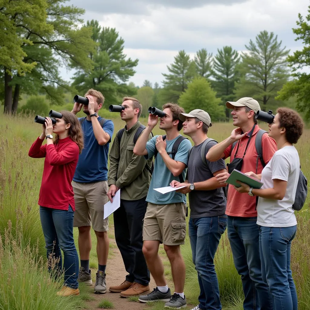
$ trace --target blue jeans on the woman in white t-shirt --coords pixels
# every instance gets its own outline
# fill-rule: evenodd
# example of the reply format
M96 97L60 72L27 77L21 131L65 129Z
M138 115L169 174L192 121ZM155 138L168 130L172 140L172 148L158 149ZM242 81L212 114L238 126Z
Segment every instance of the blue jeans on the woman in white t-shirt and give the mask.
M297 310L297 293L290 269L290 248L296 227L259 226L262 276L269 286L275 310Z

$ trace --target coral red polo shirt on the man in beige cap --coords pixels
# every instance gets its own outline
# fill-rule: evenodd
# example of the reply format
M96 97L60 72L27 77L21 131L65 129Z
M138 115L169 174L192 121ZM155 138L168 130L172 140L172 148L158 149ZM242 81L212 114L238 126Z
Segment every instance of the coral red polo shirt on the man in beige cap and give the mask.
M246 150L246 155L243 157L243 164L241 172L253 171L256 170L256 161L257 161L257 152L255 148L255 138L257 131L259 131L259 126L256 125L250 140L249 146ZM239 149L236 155L236 158L242 158L244 151L246 149L246 144L249 140L249 135L246 135L240 140ZM233 161L235 153L237 151L238 143L235 147L232 148L232 145L229 145L228 148L224 151L225 159L230 156L230 162ZM272 158L273 154L277 151L276 141L268 136L267 133L262 136L262 149L263 149L263 160L267 164ZM230 154L231 153L231 154ZM262 173L263 165L258 160L257 174ZM247 193L237 192L233 185L229 184L228 193L227 193L227 205L226 205L226 214L230 216L241 216L241 217L252 217L257 216L257 211L255 210L256 206L256 196L251 197Z

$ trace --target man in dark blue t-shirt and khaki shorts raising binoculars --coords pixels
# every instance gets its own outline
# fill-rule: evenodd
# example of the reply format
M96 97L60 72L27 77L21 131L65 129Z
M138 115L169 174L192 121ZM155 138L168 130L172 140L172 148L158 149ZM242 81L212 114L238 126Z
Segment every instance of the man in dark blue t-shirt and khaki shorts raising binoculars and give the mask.
M78 227L78 247L81 267L78 281L91 285L89 254L91 251L91 226L97 237L98 272L95 293L106 292L105 267L108 259L108 218L104 217L104 204L108 202L108 151L114 125L104 120L97 112L104 103L100 91L90 89L85 94L87 105L74 103L73 114L81 111L86 118L79 118L84 134L84 148L79 156L73 176L75 214L73 226Z

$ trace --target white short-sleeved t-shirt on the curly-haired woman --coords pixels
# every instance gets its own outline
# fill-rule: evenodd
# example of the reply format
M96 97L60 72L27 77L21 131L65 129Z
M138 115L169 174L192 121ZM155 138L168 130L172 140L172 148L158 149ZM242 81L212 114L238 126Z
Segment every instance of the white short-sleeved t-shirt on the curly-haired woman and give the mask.
M299 155L294 146L285 146L274 153L262 171L262 188L273 188L273 180L287 181L282 200L259 197L257 224L266 227L290 227L297 224L292 208L299 179Z

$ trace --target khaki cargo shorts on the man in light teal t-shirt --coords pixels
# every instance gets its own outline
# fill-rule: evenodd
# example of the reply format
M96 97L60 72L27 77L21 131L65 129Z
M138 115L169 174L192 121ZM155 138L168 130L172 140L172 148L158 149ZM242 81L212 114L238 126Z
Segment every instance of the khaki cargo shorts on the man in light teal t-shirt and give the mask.
M143 240L159 240L167 246L184 244L186 205L183 202L155 205L148 202L143 220Z

